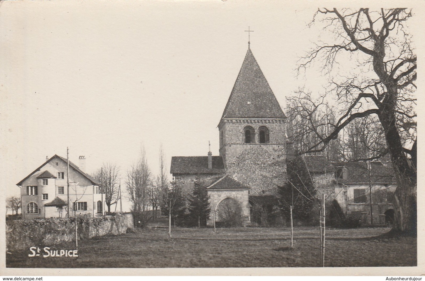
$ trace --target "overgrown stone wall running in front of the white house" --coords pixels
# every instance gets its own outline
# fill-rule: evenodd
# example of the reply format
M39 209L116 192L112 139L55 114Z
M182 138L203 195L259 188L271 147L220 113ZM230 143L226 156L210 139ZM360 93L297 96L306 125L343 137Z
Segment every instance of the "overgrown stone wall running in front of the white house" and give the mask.
M102 216L77 218L79 239L95 236L118 235L133 228L133 216ZM28 250L29 247L47 247L75 240L75 219L23 219L6 222L8 250Z

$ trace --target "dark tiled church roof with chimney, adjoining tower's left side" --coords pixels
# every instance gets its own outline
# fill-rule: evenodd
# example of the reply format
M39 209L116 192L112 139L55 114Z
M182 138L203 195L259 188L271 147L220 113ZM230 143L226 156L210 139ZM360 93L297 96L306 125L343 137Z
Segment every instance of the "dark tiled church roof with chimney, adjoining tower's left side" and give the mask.
M223 157L212 156L212 169L208 169L208 156L173 156L171 174L223 174Z

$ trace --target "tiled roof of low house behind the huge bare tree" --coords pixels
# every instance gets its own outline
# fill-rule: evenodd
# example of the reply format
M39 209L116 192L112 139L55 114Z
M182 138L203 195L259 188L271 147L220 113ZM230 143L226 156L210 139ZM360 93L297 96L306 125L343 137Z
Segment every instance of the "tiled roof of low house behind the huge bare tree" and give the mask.
M369 171L364 162L336 163L337 169L347 169L346 179L335 178L337 183L368 183ZM372 183L397 183L391 163L371 162Z

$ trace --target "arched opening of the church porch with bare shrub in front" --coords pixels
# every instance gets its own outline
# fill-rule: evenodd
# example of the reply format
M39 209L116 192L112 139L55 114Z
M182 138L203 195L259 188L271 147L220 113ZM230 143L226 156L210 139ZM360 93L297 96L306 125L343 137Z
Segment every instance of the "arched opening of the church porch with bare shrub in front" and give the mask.
M227 197L218 203L216 208L219 226L231 227L242 225L242 208L238 201Z

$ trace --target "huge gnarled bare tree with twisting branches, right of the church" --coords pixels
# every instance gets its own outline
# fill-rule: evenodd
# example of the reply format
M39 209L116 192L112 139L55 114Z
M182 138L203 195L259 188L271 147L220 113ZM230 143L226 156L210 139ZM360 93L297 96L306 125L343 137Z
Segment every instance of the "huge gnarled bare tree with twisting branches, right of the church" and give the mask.
M319 141L303 153L323 151L351 121L376 115L397 178L395 228L416 233L416 55L407 30L411 11L325 8L317 11L312 23L322 15L326 23L323 30L331 31L334 38L329 40L333 42L317 45L301 60L300 69L323 59L325 73L338 70L342 61L344 68L358 73L333 76L328 94L336 93L340 117L328 134L317 134ZM371 155L369 159L381 156Z

